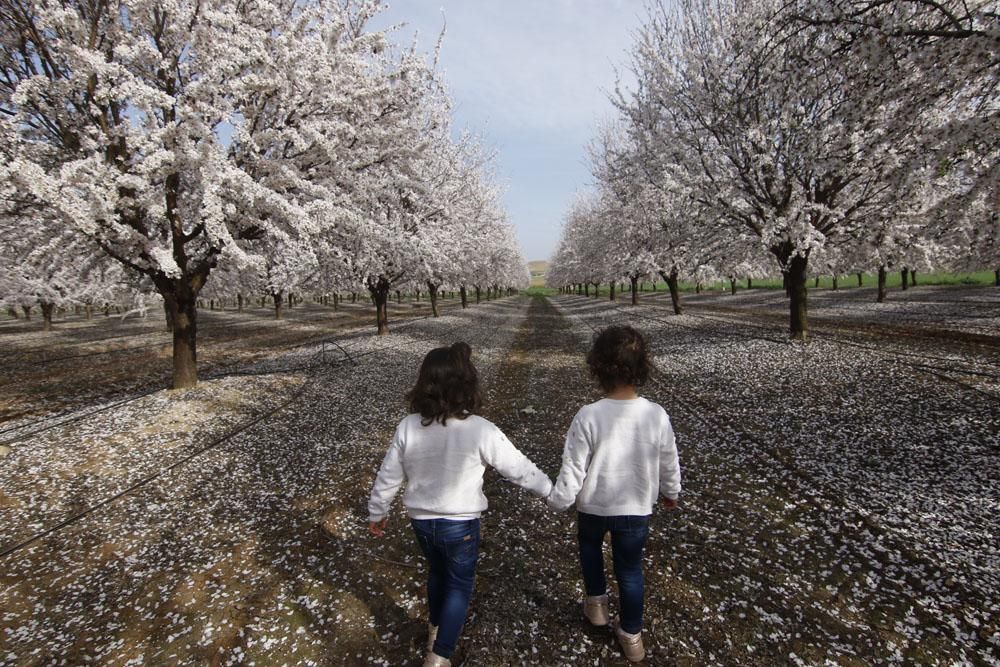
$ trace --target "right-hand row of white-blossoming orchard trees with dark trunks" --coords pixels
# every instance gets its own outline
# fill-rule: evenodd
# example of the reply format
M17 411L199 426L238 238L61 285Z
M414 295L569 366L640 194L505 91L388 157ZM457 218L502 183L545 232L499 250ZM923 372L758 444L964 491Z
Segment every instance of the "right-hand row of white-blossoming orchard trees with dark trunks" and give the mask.
M553 287L996 272L1000 3L653 4Z

